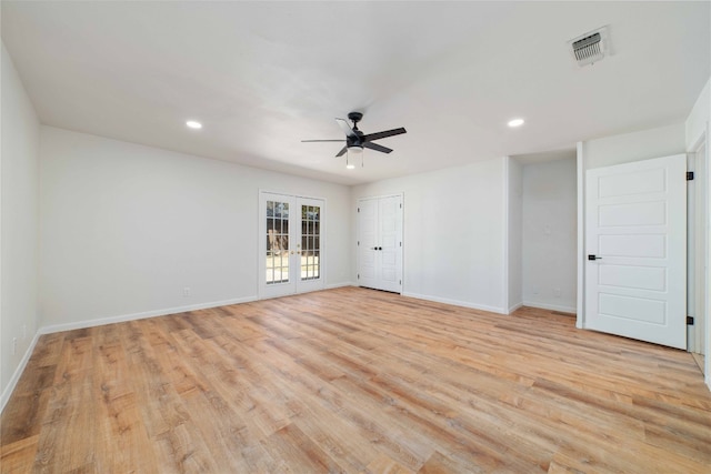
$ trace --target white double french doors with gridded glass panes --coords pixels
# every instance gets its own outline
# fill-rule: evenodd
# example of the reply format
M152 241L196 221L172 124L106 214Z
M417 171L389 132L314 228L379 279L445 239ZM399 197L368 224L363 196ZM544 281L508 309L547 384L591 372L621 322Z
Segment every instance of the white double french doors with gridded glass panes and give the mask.
M323 288L323 200L261 192L259 296Z

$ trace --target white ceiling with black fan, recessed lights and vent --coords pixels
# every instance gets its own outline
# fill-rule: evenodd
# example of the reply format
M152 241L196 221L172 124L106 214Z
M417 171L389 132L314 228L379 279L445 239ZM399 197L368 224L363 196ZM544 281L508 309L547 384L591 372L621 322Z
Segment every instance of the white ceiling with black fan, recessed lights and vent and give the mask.
M683 121L709 2L14 2L2 40L42 123L353 184ZM579 68L568 40L609 26ZM404 127L346 170L336 117ZM509 129L509 119L527 120ZM188 119L204 124L188 130Z

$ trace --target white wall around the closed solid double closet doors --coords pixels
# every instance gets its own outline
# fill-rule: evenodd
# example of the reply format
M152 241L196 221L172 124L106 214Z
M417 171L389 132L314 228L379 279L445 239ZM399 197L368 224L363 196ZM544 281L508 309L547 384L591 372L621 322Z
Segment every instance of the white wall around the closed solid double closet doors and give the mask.
M504 159L359 185L351 209L400 192L403 294L505 313Z

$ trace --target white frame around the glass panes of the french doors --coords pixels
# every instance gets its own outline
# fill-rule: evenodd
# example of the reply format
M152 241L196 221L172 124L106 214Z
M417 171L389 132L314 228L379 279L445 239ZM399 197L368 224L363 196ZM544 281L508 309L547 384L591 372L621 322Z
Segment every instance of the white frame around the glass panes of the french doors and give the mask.
M259 188L257 190L257 299L258 300L267 300L267 299L271 299L271 297L281 297L281 296L288 296L287 295L279 295L279 296L271 296L271 295L267 295L264 294L264 285L262 282L262 278L266 276L264 272L263 272L263 260L262 260L262 251L264 249L262 249L262 242L264 239L264 235L262 235L262 206L261 206L261 202L262 202L262 194L277 194L277 195L282 195L284 198L289 198L289 199L293 199L294 202L297 202L299 199L312 199L312 200L317 200L317 201L321 201L323 203L323 206L321 209L321 219L320 219L320 255L319 255L319 264L320 264L320 269L319 269L319 273L320 273L320 278L319 281L321 281L323 284L321 285L321 288L317 288L317 289L307 289L303 291L299 291L299 282L296 282L296 291L294 293L290 293L290 294L300 294L300 293L308 293L310 291L319 291L319 290L323 290L326 288L326 279L327 279L327 270L326 270L326 263L328 261L328 256L327 256L327 246L326 243L328 241L327 239L327 226L328 226L328 219L326 219L327 215L327 199L326 198L319 198L319 196L314 196L314 195L309 195L307 193L289 193L286 191L273 191L270 189L263 189L263 188ZM308 286L313 286L313 285L307 285Z

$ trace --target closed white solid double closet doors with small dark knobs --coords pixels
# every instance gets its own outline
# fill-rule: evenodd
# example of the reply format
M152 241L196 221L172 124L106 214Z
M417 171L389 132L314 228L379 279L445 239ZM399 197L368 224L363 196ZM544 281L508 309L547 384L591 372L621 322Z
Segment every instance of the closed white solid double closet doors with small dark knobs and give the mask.
M358 202L358 283L402 291L402 195Z

